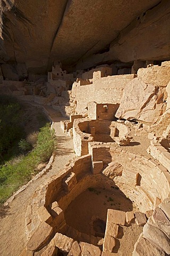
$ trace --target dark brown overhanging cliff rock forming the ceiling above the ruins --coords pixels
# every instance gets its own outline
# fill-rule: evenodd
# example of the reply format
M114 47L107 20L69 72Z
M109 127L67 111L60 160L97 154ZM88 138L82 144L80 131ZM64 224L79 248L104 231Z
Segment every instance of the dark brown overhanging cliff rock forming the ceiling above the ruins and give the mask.
M170 4L160 0L1 0L0 61L29 73L170 58Z

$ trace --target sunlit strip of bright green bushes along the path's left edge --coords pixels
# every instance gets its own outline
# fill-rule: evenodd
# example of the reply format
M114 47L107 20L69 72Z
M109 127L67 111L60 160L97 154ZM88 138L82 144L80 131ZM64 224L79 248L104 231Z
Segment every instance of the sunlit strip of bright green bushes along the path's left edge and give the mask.
M0 169L0 203L4 203L21 185L28 182L37 173L37 166L48 161L54 150L54 136L50 124L46 124L38 133L35 148L16 164L7 163Z

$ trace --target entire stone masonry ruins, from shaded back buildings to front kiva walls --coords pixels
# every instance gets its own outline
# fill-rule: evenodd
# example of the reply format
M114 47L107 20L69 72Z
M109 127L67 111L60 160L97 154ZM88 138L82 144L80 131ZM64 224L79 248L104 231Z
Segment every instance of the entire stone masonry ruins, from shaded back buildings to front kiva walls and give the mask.
M134 63L135 74L128 75L112 76L106 66L79 70L76 82L75 74L66 74L60 64L48 74L45 90L15 81L15 90L7 81L0 85L20 99L70 116L61 127L73 137L77 155L33 194L25 217L27 248L21 255L124 255L117 241L122 228L132 225L142 227L133 256L170 254L169 62L140 69ZM74 82L72 90L67 81ZM143 134L150 145L139 154L136 138ZM129 211L108 208L103 234L87 234L67 223L69 205L91 187L118 191L133 204Z

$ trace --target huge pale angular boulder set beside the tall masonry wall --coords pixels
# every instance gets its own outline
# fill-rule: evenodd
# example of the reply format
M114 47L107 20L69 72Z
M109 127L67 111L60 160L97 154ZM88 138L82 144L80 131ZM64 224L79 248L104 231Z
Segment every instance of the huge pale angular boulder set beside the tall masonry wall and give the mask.
M137 119L155 123L162 113L163 102L158 101L157 88L146 84L140 78L134 78L124 89L117 118Z

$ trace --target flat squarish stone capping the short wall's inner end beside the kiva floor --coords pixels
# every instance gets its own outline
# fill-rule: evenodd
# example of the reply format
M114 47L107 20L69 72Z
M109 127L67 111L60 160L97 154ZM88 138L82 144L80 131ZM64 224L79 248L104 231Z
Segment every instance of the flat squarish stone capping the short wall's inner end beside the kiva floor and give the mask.
M125 212L108 209L107 210L107 219L112 220L112 222L114 222L115 224L124 226L125 225Z

